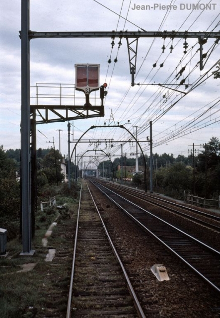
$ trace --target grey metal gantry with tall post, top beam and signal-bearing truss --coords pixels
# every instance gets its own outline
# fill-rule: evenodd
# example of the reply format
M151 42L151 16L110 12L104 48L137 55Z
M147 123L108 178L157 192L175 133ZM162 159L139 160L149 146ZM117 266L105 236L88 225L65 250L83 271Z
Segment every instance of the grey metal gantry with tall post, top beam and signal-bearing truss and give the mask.
M130 73L132 75L132 86L134 85L134 75L136 72L136 61L137 61L137 50L138 50L138 39L139 38L198 38L200 45L200 69L203 69L203 44L208 38L215 38L216 43L220 40L220 32L176 32L176 31L90 31L90 32L35 32L30 30L30 0L21 0L21 207L22 207L22 241L23 250L21 254L33 254L34 251L31 250L31 215L33 215L33 206L31 207L31 188L33 189L33 184L31 184L31 147L32 154L36 153L36 134L34 133L36 125L35 111L44 109L46 116L43 117L44 122L49 121L47 114L51 110L54 114L58 116L56 121L68 121L73 119L81 119L88 117L99 117L104 116L103 107L98 109L92 109L96 111L95 114L89 114L90 109L84 106L66 107L66 111L71 110L74 115L63 116L59 113L60 106L56 105L32 105L30 106L30 40L37 38L126 38L128 43L129 51L129 63L130 63ZM132 44L135 43L135 48ZM133 55L132 55L133 54ZM103 105L103 101L102 101ZM102 106L101 105L101 106ZM38 108L37 108L38 107ZM80 108L82 107L82 108ZM99 106L97 106L99 107ZM64 106L62 106L62 110ZM32 123L31 123L32 114ZM81 115L82 114L82 115ZM32 124L32 128L31 128ZM104 126L103 126L104 127ZM126 129L124 127L124 129ZM32 141L30 140L32 130ZM129 131L128 131L129 132ZM130 132L129 132L130 133ZM144 157L144 154L143 154ZM145 158L145 157L144 157ZM33 158L32 158L33 162ZM33 169L32 165L32 169ZM34 175L32 171L32 175ZM33 183L33 178L32 178Z

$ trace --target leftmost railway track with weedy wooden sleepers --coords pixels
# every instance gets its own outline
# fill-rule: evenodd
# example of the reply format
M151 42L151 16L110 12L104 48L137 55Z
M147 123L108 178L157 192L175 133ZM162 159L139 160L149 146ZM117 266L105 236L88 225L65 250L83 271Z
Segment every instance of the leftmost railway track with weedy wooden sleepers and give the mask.
M66 317L144 318L125 268L85 182L81 192Z

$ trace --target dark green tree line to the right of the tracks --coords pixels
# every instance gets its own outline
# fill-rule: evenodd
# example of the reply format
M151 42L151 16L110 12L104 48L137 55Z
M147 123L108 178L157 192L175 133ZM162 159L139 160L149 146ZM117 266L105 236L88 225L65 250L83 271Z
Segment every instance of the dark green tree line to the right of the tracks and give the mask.
M149 156L147 162L147 184L149 188ZM104 162L104 170L103 170ZM102 161L98 165L100 175L107 178L121 179L121 170L118 165L123 165L123 179L133 179L136 185L144 185L144 175L132 175L128 172L129 166L136 165L136 159L126 156L116 158L111 164L110 160ZM141 155L138 158L139 166L144 165ZM188 157L173 154L153 155L153 190L167 195L183 198L183 193L190 192L206 198L218 198L220 195L220 140L212 137L210 141L197 147L189 153Z

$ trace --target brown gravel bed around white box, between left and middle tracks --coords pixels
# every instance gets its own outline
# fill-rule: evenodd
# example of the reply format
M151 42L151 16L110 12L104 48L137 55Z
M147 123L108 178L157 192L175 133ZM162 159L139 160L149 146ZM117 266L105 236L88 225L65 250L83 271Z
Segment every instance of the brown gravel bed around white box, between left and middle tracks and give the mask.
M134 278L134 288L146 317L219 318L220 299L216 293L94 186L90 186L102 210L102 217L111 229L116 248L126 251L120 256ZM195 228L192 227L192 231L195 232ZM159 282L156 279L151 272L154 264L166 267L169 281Z

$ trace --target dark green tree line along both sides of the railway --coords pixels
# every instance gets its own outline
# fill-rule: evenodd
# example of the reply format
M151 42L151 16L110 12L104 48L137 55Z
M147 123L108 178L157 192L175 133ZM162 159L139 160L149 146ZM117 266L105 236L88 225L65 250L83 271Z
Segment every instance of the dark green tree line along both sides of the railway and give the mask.
M55 160L56 157L56 160ZM61 171L62 156L58 150L37 150L37 187L38 190L63 181ZM149 189L149 157L147 162L147 189ZM125 178L132 178L132 183L143 186L144 174L132 175L127 167L135 166L135 158L115 158L113 161L105 160L99 163L98 170L106 178L121 178L118 166L123 162L123 182ZM144 158L138 158L139 166L144 165ZM103 169L104 166L104 169ZM71 165L71 176L75 166ZM17 235L20 213L20 182L17 175L20 172L20 150L3 150L0 146L0 227L9 229L9 237ZM179 155L174 158L172 154L153 155L153 191L166 195L183 198L183 193L190 192L200 197L218 199L220 195L220 140L212 137L210 141L201 145L188 157ZM8 226L8 223L10 226Z

